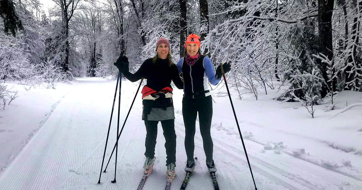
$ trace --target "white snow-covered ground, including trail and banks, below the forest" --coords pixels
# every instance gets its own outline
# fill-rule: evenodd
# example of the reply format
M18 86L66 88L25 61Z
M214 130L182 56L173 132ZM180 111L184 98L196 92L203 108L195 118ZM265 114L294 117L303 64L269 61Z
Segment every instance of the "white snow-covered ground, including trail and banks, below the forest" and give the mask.
M5 83L19 97L0 110L1 190L132 190L143 173L144 138L142 101L138 94L118 146L117 183L115 156L97 185L106 142L115 80L81 78L56 89ZM138 83L122 81L120 127L133 100ZM29 88L29 86L25 86ZM278 87L278 86L277 86ZM240 87L239 87L240 90ZM242 90L243 91L243 90ZM214 91L226 92L225 87ZM361 190L362 107L335 117L346 104L362 102L361 92L338 94L337 110L325 111L330 103L316 107L315 118L299 102L273 100L282 90L261 89L258 100L236 88L232 100L260 190ZM241 93L245 93L244 91ZM252 190L254 184L227 94L214 96L212 137L220 189ZM180 189L185 172L182 90L174 90L177 134L176 178L171 189ZM347 103L346 103L347 102ZM115 105L105 165L116 139L118 98ZM197 123L198 125L198 123ZM156 144L156 163L144 190L164 189L165 148L162 128ZM195 156L199 162L186 189L213 189L207 173L199 132Z

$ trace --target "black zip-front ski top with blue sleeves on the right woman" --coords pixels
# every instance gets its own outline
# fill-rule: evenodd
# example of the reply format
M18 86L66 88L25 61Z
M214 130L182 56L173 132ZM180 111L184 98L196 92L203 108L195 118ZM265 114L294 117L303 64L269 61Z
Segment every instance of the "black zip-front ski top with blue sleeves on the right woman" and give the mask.
M210 96L209 84L216 85L219 79L215 77L214 67L208 56L201 55L195 64L190 66L186 60L181 58L177 64L178 73L182 72L184 78L184 97L205 97Z

